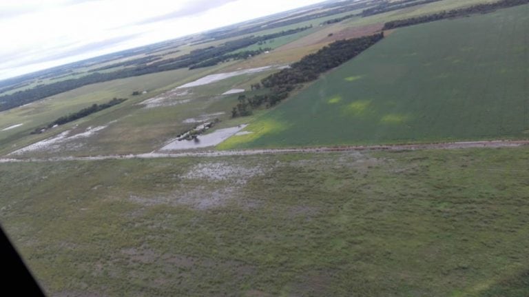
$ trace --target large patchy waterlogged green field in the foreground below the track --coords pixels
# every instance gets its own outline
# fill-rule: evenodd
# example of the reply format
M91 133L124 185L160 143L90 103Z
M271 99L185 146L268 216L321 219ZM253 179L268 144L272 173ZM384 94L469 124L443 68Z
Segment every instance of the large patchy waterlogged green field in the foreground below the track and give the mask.
M523 297L528 167L527 147L3 163L0 223L52 296Z

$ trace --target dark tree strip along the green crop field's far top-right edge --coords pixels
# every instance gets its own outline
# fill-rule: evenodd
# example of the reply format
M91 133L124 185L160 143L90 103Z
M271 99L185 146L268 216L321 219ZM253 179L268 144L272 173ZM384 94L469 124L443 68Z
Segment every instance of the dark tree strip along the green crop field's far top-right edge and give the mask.
M396 21L388 21L384 24L384 30L406 27L408 25L416 25L418 23L428 23L431 21L439 21L441 19L451 19L455 17L465 17L469 14L488 13L499 8L509 8L512 6L519 6L529 3L529 0L501 0L494 3L477 4L468 8L459 8L456 10L444 10L435 14L427 14L421 17L412 17L409 19L400 19Z

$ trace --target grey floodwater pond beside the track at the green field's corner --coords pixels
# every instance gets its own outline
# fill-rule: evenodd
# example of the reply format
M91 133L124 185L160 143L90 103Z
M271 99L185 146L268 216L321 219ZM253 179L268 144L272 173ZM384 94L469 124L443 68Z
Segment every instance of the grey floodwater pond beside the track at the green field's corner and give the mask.
M165 145L165 147L162 147L160 150L191 150L201 147L211 147L225 141L229 136L236 134L246 126L247 125L238 125L237 127L219 129L215 132L198 136L197 141L172 141L172 143Z

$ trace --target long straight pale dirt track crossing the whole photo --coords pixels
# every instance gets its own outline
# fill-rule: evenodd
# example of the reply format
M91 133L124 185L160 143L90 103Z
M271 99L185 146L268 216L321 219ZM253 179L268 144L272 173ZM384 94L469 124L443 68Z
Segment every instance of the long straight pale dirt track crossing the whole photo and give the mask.
M49 161L90 161L121 158L180 158L189 156L248 156L258 154L289 154L289 153L319 153L319 152L353 152L363 150L454 150L472 147L519 147L529 145L529 140L523 141L461 141L451 143L422 143L409 145L355 145L338 147L307 147L290 149L263 150L227 150L227 151L180 151L180 152L151 152L147 154L107 155L107 156L59 156L54 158L0 158L0 163L8 162L49 162Z

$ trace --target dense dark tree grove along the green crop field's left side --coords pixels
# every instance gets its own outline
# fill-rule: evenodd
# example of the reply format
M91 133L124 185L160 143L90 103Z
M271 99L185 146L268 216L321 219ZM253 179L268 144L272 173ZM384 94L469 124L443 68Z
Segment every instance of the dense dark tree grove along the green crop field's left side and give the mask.
M371 36L355 39L338 40L314 54L303 57L300 61L293 63L290 68L271 74L261 80L260 84L252 85L252 90L259 90L261 85L267 88L267 94L256 94L251 97L240 95L238 103L231 110L231 116L247 116L253 108L266 105L271 107L289 96L289 93L298 88L301 83L307 83L318 79L320 74L338 67L342 63L353 59L358 54L371 47L384 38L380 32Z

